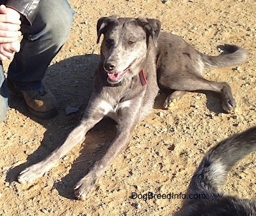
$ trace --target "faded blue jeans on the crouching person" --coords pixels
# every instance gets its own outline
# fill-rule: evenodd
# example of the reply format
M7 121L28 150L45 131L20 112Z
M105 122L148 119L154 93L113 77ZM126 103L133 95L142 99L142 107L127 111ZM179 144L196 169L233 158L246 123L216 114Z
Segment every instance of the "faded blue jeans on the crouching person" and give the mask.
M20 90L36 90L42 87L42 79L61 47L67 41L74 10L67 0L44 0L33 25L22 25L20 52L14 55L8 68L8 79ZM8 109L8 95L0 66L0 122Z

